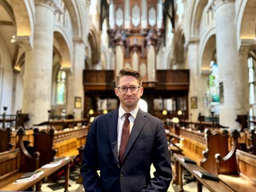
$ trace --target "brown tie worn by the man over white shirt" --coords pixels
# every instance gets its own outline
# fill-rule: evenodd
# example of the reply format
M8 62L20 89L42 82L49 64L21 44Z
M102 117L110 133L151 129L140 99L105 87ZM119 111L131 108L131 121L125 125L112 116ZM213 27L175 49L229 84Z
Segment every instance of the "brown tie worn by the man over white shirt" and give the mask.
M124 120L124 125L123 125L122 138L121 138L121 144L120 144L120 149L119 149L119 157L118 157L118 160L119 160L120 163L123 162L125 148L126 148L129 136L130 136L130 121L129 121L128 117L131 114L126 113L124 115L125 115L125 120Z

